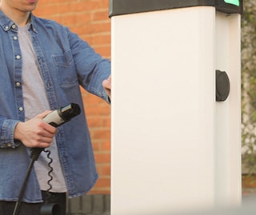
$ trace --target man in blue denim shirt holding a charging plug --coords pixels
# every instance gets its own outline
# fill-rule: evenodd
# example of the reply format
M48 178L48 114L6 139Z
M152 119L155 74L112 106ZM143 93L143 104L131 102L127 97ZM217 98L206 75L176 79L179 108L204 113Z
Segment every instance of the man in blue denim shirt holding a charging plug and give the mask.
M31 148L50 154L34 163L19 215L40 214L46 198L66 214L66 196L87 193L98 178L80 86L110 102L110 62L66 27L35 17L37 3L0 0L0 215L14 212ZM78 117L58 129L42 120L71 102Z

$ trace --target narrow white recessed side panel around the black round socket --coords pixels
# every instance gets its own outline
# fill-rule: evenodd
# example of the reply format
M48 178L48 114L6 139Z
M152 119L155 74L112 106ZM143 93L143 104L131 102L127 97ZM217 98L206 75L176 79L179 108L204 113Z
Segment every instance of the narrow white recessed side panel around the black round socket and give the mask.
M216 204L241 201L241 54L240 15L217 13L216 69L230 78L230 96L216 102L215 197Z

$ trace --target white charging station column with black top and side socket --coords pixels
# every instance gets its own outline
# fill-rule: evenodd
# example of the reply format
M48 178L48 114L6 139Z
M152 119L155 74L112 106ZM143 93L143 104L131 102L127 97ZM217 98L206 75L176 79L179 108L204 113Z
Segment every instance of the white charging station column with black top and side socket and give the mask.
M203 2L110 1L111 215L240 204L242 2Z

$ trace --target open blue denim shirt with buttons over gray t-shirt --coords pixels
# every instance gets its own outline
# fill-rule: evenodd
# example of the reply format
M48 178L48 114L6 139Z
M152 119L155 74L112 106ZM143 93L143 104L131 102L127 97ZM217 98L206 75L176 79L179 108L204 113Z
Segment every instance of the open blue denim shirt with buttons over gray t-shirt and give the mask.
M50 109L70 102L82 109L79 116L59 126L55 135L69 197L76 197L87 193L98 178L80 86L108 102L102 81L110 75L110 61L57 22L31 14L29 31ZM30 155L20 141L14 140L15 126L25 120L18 26L2 11L0 49L0 200L17 201ZM34 169L23 201L42 201Z

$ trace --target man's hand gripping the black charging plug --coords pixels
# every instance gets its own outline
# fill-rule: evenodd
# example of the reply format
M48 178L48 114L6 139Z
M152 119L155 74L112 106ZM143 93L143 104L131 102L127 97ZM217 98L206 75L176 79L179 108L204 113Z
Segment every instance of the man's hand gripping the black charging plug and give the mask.
M53 141L57 129L43 121L51 111L45 111L26 122L18 122L14 130L14 139L22 141L29 148L47 148Z

